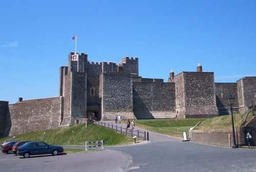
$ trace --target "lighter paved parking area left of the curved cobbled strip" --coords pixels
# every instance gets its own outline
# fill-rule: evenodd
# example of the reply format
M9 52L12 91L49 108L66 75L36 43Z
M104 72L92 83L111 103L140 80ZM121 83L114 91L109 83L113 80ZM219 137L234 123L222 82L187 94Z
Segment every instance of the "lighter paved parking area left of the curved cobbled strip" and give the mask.
M0 153L0 171L69 172L69 171L120 171L125 165L124 153L113 150L81 152L69 155L44 155L23 158Z

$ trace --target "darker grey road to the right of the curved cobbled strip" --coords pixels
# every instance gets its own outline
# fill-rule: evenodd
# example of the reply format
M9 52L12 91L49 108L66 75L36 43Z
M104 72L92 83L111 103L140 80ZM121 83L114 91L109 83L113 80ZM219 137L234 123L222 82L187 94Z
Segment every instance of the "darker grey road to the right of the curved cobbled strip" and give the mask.
M256 171L256 151L190 142L108 147L132 156L131 171Z

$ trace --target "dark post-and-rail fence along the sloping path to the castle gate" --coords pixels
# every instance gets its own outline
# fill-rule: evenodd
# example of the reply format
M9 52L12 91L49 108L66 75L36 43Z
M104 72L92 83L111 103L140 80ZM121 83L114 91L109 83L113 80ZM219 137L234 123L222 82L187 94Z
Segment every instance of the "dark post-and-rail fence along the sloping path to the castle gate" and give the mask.
M113 124L109 124L109 123L107 124L102 121L93 121L93 124L110 128L110 129L115 130L116 132L121 133L121 134L123 133L125 135L129 135L132 137L137 136L138 138L142 138L144 140L149 141L148 132L146 132L146 131L141 132L139 130L128 130L126 127L122 127L122 126L119 127L117 125L113 125Z

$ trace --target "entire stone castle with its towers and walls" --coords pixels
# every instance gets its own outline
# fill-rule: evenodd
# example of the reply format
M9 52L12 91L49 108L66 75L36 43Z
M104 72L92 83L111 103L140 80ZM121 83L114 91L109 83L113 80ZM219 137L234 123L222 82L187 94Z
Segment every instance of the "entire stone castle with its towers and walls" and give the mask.
M168 82L139 76L138 58L120 63L89 62L87 54L59 69L59 97L0 101L0 137L28 131L66 127L87 118L114 120L161 118L210 118L228 114L227 98L236 101L235 113L244 113L256 100L256 77L237 83L215 83L214 72L170 71Z

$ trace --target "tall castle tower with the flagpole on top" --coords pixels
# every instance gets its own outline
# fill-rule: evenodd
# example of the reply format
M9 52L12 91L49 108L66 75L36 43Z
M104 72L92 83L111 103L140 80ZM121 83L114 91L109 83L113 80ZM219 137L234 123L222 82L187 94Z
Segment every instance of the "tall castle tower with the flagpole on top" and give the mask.
M73 52L68 56L68 67L60 67L59 96L63 97L60 126L84 122L87 118L87 54L78 54L77 62L72 61ZM78 71L77 71L78 70Z

